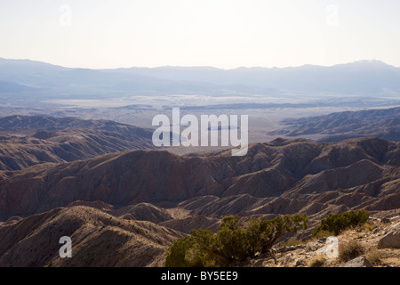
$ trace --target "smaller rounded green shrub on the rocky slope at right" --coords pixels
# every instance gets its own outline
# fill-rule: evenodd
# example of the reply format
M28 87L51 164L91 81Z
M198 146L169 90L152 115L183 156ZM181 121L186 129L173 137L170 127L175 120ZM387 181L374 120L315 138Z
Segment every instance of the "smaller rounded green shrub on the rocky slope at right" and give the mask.
M315 237L318 232L328 231L338 235L341 231L360 224L364 224L370 213L364 209L349 211L341 214L329 214L322 219L316 229L312 232Z

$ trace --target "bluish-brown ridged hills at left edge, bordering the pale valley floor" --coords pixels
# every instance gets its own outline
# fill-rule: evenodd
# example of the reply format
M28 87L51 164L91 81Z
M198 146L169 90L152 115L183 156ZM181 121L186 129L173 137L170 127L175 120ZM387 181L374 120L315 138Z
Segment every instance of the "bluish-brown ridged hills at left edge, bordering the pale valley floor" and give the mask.
M155 149L152 131L105 120L0 118L0 170L91 159L109 152Z

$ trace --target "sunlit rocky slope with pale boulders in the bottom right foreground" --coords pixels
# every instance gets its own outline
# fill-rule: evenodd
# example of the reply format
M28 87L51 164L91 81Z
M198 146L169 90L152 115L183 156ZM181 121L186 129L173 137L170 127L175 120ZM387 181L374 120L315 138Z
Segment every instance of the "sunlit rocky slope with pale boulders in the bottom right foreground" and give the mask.
M400 267L400 216L379 212L363 226L313 240L278 244L264 255L233 266L244 267ZM378 218L377 216L380 216ZM390 240L390 241L388 241ZM353 256L352 256L353 255Z

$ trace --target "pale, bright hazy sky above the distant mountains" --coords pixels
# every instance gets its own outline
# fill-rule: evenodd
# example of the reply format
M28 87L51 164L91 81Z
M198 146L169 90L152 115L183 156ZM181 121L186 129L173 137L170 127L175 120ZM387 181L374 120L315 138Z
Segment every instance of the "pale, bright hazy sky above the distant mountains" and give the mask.
M399 0L0 0L0 57L68 67L400 67Z

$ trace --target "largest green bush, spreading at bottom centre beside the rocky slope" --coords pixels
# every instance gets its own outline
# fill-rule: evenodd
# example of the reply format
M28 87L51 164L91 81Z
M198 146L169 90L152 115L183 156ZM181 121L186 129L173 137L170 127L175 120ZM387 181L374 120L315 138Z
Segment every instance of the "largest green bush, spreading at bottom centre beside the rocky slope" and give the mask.
M217 233L200 229L176 240L168 248L167 267L226 266L256 254L269 252L286 232L307 229L306 214L276 216L271 220L251 218L240 224L238 216L224 217Z

